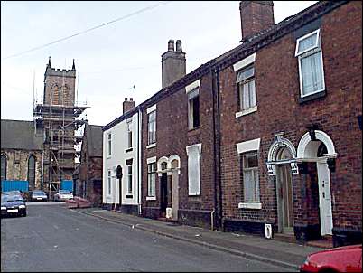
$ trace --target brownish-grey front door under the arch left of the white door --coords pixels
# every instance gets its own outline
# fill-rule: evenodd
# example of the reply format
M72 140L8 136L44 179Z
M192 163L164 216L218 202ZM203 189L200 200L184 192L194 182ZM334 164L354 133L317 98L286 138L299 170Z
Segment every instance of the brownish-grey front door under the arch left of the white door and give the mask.
M279 232L293 233L293 184L290 165L278 167L277 206Z

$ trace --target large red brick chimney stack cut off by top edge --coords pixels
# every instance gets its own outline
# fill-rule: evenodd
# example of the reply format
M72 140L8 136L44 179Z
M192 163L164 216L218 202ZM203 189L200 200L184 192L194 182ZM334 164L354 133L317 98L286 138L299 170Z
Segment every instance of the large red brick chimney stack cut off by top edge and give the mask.
M242 40L275 24L273 1L241 1Z

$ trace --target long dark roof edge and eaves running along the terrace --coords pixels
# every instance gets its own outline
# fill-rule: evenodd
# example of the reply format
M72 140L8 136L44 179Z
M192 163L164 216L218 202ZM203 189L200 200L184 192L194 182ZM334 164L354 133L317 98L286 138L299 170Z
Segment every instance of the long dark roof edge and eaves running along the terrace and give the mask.
M298 14L286 17L282 22L272 25L271 27L259 32L252 34L248 37L242 39L237 47L221 54L205 64L200 65L199 68L191 71L190 73L184 75L180 80L175 81L172 85L161 89L155 93L151 98L146 99L139 106L133 110L126 112L125 115L114 119L109 122L106 126L102 127L105 131L111 127L116 126L119 122L135 114L136 111L147 108L150 105L158 102L166 96L172 95L172 93L186 85L190 84L194 80L198 80L201 76L208 73L210 69L223 70L224 68L230 66L237 60L241 60L247 55L256 52L258 49L265 47L269 43L281 38L287 33L292 33L295 29L302 27L304 24L309 24L313 20L321 17L323 14L329 13L331 10L344 5L349 1L319 1L318 3L307 7Z

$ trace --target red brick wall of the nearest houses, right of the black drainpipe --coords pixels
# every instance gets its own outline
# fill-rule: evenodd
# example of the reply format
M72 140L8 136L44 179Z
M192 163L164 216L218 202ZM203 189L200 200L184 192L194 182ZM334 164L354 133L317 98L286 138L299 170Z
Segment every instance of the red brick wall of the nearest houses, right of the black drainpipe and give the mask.
M220 72L221 175L224 216L276 221L275 178L267 175L265 162L274 134L284 131L297 149L306 127L317 124L332 139L338 158L330 174L334 227L361 230L361 131L362 113L361 3L350 2L325 14L321 43L327 95L299 104L298 62L294 57L293 33L256 52L256 100L258 110L241 118L237 112L236 73L232 67ZM237 209L243 202L238 142L261 137L259 182L262 210ZM303 174L293 175L295 222L309 222L304 196L310 184ZM311 202L311 201L309 201ZM316 217L315 217L316 218Z

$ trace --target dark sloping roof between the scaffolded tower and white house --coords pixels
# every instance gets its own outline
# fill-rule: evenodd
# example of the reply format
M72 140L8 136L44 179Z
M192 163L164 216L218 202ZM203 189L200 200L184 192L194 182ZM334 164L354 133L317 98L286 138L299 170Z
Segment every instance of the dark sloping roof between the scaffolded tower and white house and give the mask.
M90 157L102 157L102 126L86 124L85 135L87 136L88 155Z

